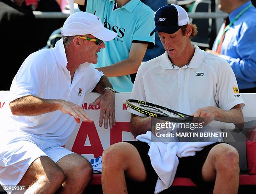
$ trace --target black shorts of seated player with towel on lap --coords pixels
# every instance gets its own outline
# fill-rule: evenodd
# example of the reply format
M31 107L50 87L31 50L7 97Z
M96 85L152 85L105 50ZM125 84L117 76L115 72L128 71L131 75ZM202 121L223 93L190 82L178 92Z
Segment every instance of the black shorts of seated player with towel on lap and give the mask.
M158 175L156 174L154 168L151 166L150 157L148 156L149 145L145 142L141 141L126 141L127 143L131 143L137 150L141 156L141 160L144 164L147 173L147 185L156 186L156 181L158 179ZM203 186L205 181L202 179L202 166L205 163L205 160L208 156L210 150L217 144L223 142L216 142L211 145L205 146L202 151L197 151L195 156L188 156L179 158L179 165L176 172L176 177L187 177L191 179L197 186ZM130 182L131 180L128 180ZM214 183L212 183L212 186Z

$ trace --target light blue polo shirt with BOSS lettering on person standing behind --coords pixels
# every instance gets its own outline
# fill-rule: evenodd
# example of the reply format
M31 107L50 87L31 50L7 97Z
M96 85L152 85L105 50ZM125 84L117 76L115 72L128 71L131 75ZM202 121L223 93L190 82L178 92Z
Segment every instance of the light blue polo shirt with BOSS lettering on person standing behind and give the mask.
M104 67L128 59L133 42L154 46L154 11L140 0L130 0L121 8L114 8L115 0L88 0L86 11L100 17L105 28L118 33L112 41L106 41L106 48L98 53L95 67ZM110 77L110 83L118 92L131 92L133 83L130 75Z

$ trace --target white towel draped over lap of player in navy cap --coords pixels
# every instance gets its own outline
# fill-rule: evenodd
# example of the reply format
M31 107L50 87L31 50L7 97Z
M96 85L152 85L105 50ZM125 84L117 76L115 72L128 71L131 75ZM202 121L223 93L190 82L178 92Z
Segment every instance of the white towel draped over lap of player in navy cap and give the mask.
M215 143L161 142L151 131L138 135L136 140L145 142L150 146L148 156L159 177L156 182L155 194L168 189L172 185L179 164L178 157L195 156L196 151L201 151L205 146Z

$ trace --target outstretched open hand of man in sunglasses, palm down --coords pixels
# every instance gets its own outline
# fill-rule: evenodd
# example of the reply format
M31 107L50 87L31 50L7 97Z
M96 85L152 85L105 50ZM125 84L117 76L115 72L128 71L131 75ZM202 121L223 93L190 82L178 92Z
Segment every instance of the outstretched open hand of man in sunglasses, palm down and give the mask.
M65 114L73 116L74 120L77 123L80 123L81 120L84 122L93 122L93 120L91 120L91 118L85 113L82 107L72 102L68 102L66 100L59 100L59 110Z

